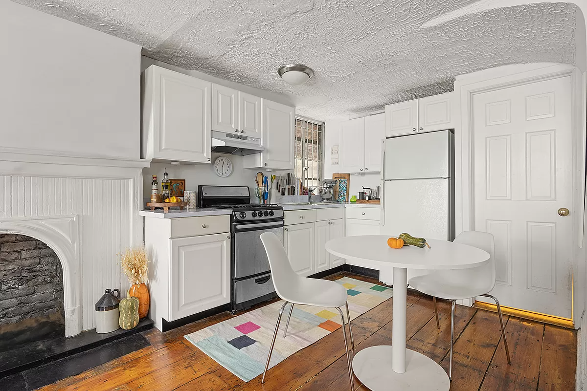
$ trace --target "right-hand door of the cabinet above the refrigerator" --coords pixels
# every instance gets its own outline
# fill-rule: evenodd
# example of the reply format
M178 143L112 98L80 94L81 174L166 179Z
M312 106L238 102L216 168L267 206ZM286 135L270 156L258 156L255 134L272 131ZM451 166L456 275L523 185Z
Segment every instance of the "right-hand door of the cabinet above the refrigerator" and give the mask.
M419 130L429 132L454 128L451 112L453 93L440 94L418 100Z

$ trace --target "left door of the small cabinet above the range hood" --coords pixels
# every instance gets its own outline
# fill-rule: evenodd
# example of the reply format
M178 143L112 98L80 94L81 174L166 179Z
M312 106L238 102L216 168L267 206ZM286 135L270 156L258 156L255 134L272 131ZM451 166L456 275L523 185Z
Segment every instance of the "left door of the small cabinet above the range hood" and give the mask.
M238 133L238 91L212 84L212 130Z

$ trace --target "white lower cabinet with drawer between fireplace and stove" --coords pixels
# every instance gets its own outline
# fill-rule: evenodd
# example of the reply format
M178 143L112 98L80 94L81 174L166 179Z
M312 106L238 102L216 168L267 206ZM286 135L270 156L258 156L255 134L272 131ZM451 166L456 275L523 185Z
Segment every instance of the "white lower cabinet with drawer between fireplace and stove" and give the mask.
M155 327L230 303L230 215L145 217L144 242Z

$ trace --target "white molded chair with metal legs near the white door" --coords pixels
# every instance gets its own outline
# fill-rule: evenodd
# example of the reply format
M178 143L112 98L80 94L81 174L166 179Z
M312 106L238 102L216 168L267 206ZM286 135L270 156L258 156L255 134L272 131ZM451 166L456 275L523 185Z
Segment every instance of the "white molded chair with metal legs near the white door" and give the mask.
M450 314L450 362L448 365L448 378L453 375L453 334L454 334L454 310L457 300L468 299L476 296L490 297L497 304L497 312L500 315L501 334L504 339L505 355L510 361L508 342L505 339L504 319L501 315L500 302L489 293L495 286L495 249L493 235L487 232L465 231L460 233L455 243L468 244L485 250L490 255L490 262L483 266L463 270L437 270L424 276L410 278L408 285L421 293L431 295L434 298L434 312L436 313L436 325L440 329L436 298L444 298L451 301Z

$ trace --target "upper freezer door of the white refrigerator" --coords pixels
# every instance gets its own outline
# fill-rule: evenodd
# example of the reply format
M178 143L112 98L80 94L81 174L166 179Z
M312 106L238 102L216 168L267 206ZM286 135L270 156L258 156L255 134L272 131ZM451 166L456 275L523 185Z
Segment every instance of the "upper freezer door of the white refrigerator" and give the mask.
M383 179L448 178L452 145L449 130L386 138Z

